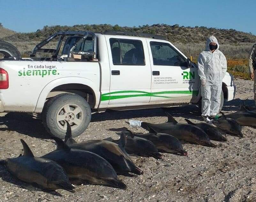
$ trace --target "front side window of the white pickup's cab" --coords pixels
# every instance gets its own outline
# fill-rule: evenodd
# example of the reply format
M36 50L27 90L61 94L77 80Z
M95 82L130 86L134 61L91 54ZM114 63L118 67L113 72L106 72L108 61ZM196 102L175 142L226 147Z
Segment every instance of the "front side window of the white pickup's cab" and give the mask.
M168 43L150 42L154 65L186 66L185 58Z

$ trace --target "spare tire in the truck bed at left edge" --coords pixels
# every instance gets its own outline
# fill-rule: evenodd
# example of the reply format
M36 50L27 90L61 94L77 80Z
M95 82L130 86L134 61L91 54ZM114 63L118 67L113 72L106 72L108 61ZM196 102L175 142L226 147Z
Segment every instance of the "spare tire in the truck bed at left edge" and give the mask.
M2 56L4 56L4 58L2 58ZM8 59L11 56L13 56L15 60L21 59L20 52L15 46L6 41L0 41L0 58Z

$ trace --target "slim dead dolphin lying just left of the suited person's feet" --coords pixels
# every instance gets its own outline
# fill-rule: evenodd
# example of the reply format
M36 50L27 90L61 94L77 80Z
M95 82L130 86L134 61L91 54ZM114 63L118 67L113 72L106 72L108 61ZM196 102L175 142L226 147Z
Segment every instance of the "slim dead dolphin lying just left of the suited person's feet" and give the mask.
M227 138L223 137L222 134L216 129L216 127L214 127L208 123L192 123L190 120L188 120L186 118L185 118L185 121L188 124L195 125L195 126L201 128L203 131L206 132L206 134L208 135L208 137L211 140L227 141Z

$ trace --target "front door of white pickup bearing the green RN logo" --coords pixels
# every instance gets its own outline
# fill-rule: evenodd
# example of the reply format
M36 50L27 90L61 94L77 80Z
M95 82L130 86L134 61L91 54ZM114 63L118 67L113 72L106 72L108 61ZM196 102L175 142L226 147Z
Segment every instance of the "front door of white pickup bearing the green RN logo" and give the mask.
M197 68L171 43L147 39L152 67L150 102L191 102L197 98Z

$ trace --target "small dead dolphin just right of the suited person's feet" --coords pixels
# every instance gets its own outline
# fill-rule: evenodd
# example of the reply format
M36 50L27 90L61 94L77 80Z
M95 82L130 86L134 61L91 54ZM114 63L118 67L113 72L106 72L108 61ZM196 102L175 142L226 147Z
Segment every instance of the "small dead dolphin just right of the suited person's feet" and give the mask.
M243 137L241 125L235 119L228 118L222 112L221 114L222 116L220 118L212 120L211 122L221 130L227 132L228 134L234 134Z

